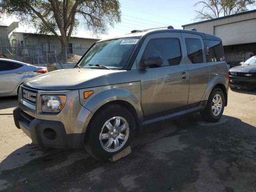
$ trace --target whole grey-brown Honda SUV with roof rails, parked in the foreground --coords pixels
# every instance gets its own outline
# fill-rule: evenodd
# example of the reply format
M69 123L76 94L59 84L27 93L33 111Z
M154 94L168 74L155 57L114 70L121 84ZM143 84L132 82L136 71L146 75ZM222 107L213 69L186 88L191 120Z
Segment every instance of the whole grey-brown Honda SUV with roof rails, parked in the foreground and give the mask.
M96 42L75 68L24 82L14 121L37 146L84 146L106 160L142 125L190 112L218 121L228 78L220 38L172 26L134 30Z

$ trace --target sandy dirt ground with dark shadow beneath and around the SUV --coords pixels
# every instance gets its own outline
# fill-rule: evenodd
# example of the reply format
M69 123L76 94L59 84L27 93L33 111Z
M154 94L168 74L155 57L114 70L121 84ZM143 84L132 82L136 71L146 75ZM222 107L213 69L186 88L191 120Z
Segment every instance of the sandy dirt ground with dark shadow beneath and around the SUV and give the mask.
M200 114L145 126L132 154L99 162L84 150L38 148L0 98L0 190L256 192L256 92L229 91L220 122Z

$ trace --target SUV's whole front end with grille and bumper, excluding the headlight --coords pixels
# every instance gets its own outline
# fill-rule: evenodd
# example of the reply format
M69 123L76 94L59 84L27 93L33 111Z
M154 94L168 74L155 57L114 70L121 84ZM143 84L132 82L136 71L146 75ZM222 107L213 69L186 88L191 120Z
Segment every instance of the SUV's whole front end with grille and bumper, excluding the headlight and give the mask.
M28 92L29 97L24 97ZM41 110L42 95L66 95L66 104L61 112L52 114ZM41 147L81 148L88 123L93 113L79 101L79 91L44 91L20 86L18 107L13 116L17 128Z

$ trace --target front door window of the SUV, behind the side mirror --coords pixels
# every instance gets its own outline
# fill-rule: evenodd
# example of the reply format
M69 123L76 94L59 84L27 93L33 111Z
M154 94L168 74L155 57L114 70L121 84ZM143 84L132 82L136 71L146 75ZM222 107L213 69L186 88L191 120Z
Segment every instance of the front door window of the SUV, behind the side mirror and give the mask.
M152 39L148 42L142 60L150 57L162 57L163 66L178 65L181 60L180 41L178 39Z

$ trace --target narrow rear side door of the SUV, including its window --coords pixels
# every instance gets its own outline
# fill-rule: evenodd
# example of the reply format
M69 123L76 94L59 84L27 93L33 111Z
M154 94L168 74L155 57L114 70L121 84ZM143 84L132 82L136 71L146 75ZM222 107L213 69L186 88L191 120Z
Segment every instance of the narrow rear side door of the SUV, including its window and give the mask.
M204 42L202 36L182 33L185 46L186 61L190 73L188 107L193 107L201 101L209 82L209 68L206 63Z

